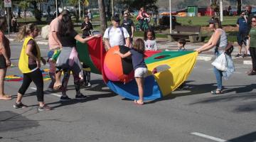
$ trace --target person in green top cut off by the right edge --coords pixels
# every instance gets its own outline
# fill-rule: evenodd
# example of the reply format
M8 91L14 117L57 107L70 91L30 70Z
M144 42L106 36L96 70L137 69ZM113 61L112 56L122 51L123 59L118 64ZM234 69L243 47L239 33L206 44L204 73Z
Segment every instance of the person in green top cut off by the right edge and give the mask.
M252 70L247 75L256 75L256 17L252 18L252 28L249 33L250 55L252 57Z

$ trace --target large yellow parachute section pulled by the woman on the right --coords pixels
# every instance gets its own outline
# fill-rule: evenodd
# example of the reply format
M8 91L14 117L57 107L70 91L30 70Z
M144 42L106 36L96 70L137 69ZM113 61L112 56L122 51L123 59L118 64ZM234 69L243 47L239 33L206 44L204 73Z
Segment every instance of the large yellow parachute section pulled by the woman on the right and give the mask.
M152 70L160 65L168 65L171 67L168 70L154 74L163 96L171 94L172 91L187 80L188 75L190 75L194 65L196 64L197 56L198 52L193 52L187 55L171 58L169 60L162 60L146 65L151 74Z

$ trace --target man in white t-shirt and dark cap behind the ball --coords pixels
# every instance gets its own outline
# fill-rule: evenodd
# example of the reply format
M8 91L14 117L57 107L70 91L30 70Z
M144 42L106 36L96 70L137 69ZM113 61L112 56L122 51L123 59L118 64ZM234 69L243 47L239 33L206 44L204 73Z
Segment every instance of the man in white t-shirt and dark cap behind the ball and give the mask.
M107 28L103 35L107 50L116 45L125 45L129 47L129 33L126 28L119 26L120 18L118 16L112 17L112 27Z

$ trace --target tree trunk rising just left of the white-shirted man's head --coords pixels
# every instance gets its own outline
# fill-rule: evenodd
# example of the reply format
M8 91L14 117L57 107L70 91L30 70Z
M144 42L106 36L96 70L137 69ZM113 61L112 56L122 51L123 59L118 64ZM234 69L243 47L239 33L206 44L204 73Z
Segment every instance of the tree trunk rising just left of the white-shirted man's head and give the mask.
M99 5L100 21L101 21L100 28L101 28L101 33L103 34L107 28L104 0L98 0L98 5Z

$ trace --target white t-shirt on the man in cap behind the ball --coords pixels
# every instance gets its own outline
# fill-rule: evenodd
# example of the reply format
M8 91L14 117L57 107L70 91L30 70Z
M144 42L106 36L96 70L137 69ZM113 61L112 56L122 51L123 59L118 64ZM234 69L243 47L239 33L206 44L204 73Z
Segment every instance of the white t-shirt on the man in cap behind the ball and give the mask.
M122 31L120 28L114 28L112 27L110 29L110 34L109 34L109 29L105 31L103 38L108 38L110 41L110 47L114 47L116 45L124 45L124 38L129 38L129 33L127 32L127 29L122 28L124 31L124 35L122 34ZM109 37L110 35L110 37Z

